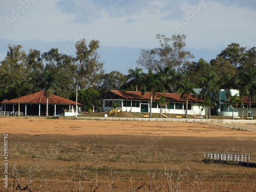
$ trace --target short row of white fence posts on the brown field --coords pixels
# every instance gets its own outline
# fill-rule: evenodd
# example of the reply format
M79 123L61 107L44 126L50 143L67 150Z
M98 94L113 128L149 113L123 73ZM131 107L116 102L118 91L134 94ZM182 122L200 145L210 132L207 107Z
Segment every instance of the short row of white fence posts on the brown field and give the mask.
M250 161L250 155L229 154L229 153L204 153L204 159L241 162L241 161Z

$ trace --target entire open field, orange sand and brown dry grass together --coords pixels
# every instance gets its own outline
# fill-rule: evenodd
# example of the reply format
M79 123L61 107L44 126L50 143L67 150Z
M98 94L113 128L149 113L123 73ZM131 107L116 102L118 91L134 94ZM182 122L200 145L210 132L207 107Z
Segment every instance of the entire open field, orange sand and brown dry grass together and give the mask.
M0 134L2 141L8 134L9 160L8 190L1 182L1 191L256 190L255 168L203 161L204 152L256 161L255 132L199 123L0 118Z

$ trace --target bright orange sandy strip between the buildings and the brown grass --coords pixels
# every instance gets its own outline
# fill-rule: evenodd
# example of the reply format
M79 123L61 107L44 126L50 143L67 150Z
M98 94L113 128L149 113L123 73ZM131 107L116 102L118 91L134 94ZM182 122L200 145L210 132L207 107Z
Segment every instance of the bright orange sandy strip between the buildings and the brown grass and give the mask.
M238 131L228 127L200 123L13 118L0 119L0 133L29 135L256 137L256 133L253 132Z

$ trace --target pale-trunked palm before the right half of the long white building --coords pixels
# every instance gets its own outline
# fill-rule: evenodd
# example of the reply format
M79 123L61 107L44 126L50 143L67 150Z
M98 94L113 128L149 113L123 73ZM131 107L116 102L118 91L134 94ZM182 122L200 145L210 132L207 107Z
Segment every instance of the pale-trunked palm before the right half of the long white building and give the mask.
M187 109L188 109L188 99L189 95L195 95L197 96L197 93L194 91L196 88L196 85L194 83L190 83L189 79L185 79L180 83L179 89L178 89L178 95L181 94L181 98L186 99L186 114L185 118L188 117Z

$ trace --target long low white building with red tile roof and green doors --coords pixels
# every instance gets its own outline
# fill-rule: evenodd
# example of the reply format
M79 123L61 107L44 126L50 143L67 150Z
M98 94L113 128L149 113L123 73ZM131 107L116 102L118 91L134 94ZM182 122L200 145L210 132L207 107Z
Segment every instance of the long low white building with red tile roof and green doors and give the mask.
M157 104L160 96L166 98L169 102L163 108L163 113L170 114L185 114L186 100L181 99L180 95L175 93L157 93L152 103L152 113L160 113L160 106ZM118 109L122 108L124 112L149 112L150 111L150 92L135 91L109 91L103 98L103 111L113 110L113 101L120 103ZM205 115L204 101L197 99L195 96L190 95L188 100L188 114L190 115Z

